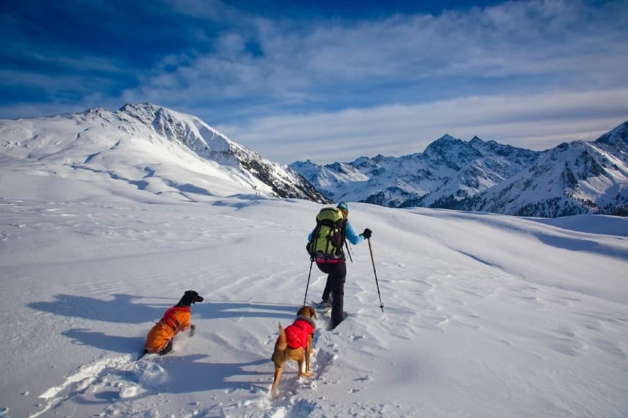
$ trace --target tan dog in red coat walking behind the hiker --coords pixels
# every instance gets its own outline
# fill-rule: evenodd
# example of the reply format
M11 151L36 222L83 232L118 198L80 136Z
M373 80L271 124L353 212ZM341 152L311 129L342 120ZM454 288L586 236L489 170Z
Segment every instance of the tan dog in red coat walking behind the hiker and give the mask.
M271 393L276 398L277 385L283 372L283 365L287 360L297 361L299 376L311 376L310 357L312 355L312 337L315 324L312 320L318 319L316 311L311 306L302 306L297 311L297 320L283 329L279 324L279 337L275 343L273 363L275 364L275 378ZM305 371L303 365L305 363Z

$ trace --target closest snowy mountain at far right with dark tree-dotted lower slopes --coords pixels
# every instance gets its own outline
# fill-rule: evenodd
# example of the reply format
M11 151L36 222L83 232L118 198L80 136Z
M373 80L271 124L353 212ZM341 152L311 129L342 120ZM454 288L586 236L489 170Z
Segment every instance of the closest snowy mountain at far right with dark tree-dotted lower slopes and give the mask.
M595 142L545 151L528 170L461 202L460 209L554 218L628 215L628 122Z

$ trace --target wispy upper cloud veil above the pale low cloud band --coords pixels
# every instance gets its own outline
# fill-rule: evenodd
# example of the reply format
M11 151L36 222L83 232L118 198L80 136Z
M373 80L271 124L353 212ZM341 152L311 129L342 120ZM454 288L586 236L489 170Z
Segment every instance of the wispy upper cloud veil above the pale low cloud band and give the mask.
M176 95L188 103L217 109L237 101L237 114L255 117L259 108L247 114L246 107L256 98L264 99L267 114L276 114L288 105L324 112L454 98L460 90L468 96L628 83L622 70L628 36L621 36L627 18L581 2L509 2L436 17L317 20L298 28L296 22L240 17L210 52L182 52L174 72L177 60L169 57L140 75L140 87L127 94L167 105L178 82ZM164 77L174 84L164 84Z

